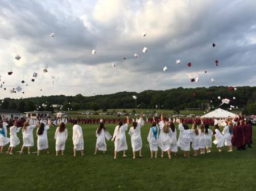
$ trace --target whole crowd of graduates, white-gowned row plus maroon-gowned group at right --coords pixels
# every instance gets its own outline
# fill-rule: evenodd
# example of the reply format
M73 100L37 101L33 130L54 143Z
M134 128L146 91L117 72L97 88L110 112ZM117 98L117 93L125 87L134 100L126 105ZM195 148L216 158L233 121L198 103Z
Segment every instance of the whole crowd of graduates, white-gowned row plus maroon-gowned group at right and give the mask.
M146 120L148 121L148 120ZM56 139L56 156L64 155L65 143L68 138L68 130L66 125L68 122L73 124L73 155L77 155L77 151L84 155L84 137L82 135L82 128L79 123L84 124L81 120L76 118L55 118L51 119L38 119L33 120L30 118L22 119L9 119L2 118L0 122L0 148L1 153L4 152L5 147L9 145L7 154L13 155L14 149L20 144L17 133L22 131L23 145L19 154L24 154L24 148L27 147L28 154L31 154L31 147L34 146L33 131L36 129L37 135L37 154L40 155L40 151L48 150L48 137L47 130L51 126L57 126L55 131ZM97 120L95 120L97 122ZM105 127L104 119L98 120L98 128L96 130L96 148L94 154L98 151L106 152L107 145L106 140L112 139L114 142L114 159L117 158L119 151L123 152L123 157L127 157L126 150L128 148L126 141L126 131L129 124L129 135L131 137L131 147L133 148L133 158L136 157L136 152L139 152L139 158L142 158L142 138L141 128L144 126L143 113L139 119L130 119L129 116L125 120L118 119L118 125L114 129L113 136ZM221 119L182 119L182 118L166 118L164 114L161 114L160 118L152 117L150 120L151 128L148 132L148 146L150 148L151 158L157 158L158 148L161 150L161 157L164 157L164 152L167 152L168 158L177 156L178 147L184 151L184 157L189 158L190 150L193 150L193 156L199 154L209 153L212 150L212 143L216 145L219 152L222 152L224 146L228 147L228 152L232 152L232 146L236 146L237 150L246 150L246 146L251 148L252 144L252 125L250 121L242 116L236 116L234 118L221 118ZM177 138L177 130L175 128L175 122L177 122L179 137ZM209 125L214 122L214 130L209 128ZM189 129L188 124L192 124L192 128ZM219 126L224 126L221 131ZM8 138L7 129L9 129L10 138ZM212 137L214 141L212 142Z

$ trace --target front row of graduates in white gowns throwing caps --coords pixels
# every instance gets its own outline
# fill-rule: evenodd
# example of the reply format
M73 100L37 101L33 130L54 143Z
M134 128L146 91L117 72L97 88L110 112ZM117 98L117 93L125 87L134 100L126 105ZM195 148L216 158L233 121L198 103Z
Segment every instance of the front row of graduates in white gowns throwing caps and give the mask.
M207 152L211 152L212 148L212 135L215 136L214 143L219 148L219 151L222 151L222 147L228 146L228 151L232 152L232 139L233 141L238 142L237 133L240 132L239 128L236 129L236 125L233 128L233 122L229 121L228 125L225 126L224 130L220 131L218 125L214 125L214 132L209 129L208 124L203 124L203 120L201 121L201 125L198 128L197 124L194 122L192 128L189 129L188 125L184 123L183 120L179 119L179 139L176 138L176 129L174 127L174 123L172 121L164 121L163 114L161 115L161 121L159 122L159 127L156 125L155 119L152 122L150 131L148 133L147 141L149 143L151 158L153 158L153 154L155 152L155 158L157 157L158 147L162 150L163 153L168 153L168 158L171 158L171 152L174 152L174 155L177 155L177 147L180 147L181 150L184 151L184 156L189 158L190 146L192 146L194 150L194 156L199 154L199 150L201 154L205 153L205 148L207 148ZM100 151L106 151L106 141L112 138L114 141L115 151L114 158L117 158L117 152L123 151L123 156L126 157L127 150L127 142L125 131L129 125L129 117L126 117L126 124L123 124L122 121L119 121L119 125L115 127L113 138L109 134L108 130L106 130L104 123L101 121L100 126L96 131L96 151L94 154ZM82 136L82 128L77 125L77 120L73 121L73 145L74 145L74 156L76 156L77 150L81 151L81 154L84 155L84 139ZM6 126L8 124L4 121L0 124L0 133L4 131L5 133L0 134L0 146L1 152L3 152L3 148L10 141L10 147L7 153L13 154L14 147L19 145L19 138L16 133L19 132L20 128L17 127L17 121L14 122L14 125L10 128L10 139L7 138L7 129ZM131 136L131 146L133 148L133 158L135 158L135 152L139 151L139 157L142 158L141 148L142 148L142 138L141 138L141 128L144 125L144 120L139 118L137 121L133 121L133 126L129 130L129 135ZM47 138L47 130L50 128L51 122L48 122L46 125L45 122L40 123L38 129L36 130L36 134L38 136L38 155L40 154L40 150L48 151L48 138ZM36 125L32 125L31 121L26 121L22 128L23 134L23 146L20 151L20 154L23 154L24 147L28 147L28 154L30 154L30 148L34 146L34 138L33 138L33 129L36 128ZM159 134L160 129L160 134ZM232 133L233 131L233 133ZM56 139L56 155L64 154L65 142L68 137L68 131L65 128L65 123L61 122L59 127L57 127L55 132ZM244 142L243 142L244 144Z

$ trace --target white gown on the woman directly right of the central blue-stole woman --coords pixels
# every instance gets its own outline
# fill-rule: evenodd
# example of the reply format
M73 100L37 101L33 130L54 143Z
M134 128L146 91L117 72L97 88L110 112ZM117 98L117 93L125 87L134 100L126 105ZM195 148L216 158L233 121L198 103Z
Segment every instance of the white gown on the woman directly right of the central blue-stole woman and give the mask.
M162 151L166 152L171 148L171 128L169 133L164 133L164 121L159 122L160 134L158 139L158 146L161 148Z

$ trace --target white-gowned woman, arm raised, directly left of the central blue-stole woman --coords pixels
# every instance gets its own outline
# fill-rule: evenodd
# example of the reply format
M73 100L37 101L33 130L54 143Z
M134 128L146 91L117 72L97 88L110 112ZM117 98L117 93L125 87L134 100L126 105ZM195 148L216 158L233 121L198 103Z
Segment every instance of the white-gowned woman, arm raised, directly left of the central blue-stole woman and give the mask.
M138 122L134 121L133 126L129 130L129 135L131 136L131 147L133 148L133 159L135 159L136 151L139 151L139 158L142 158L141 128L143 125L143 113L141 113L141 117L139 118Z

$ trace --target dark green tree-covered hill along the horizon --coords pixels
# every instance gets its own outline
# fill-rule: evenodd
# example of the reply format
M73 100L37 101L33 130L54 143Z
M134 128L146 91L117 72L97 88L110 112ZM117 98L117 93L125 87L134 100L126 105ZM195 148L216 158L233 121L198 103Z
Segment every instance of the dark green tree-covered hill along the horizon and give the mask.
M133 95L137 99L133 99ZM218 96L221 99L218 99ZM230 91L225 86L212 86L209 88L172 88L170 90L146 90L137 92L118 92L109 95L95 96L76 96L52 95L42 97L29 97L23 99L5 98L1 103L2 109L18 109L20 112L25 111L53 111L52 104L63 105L63 111L72 109L72 111L82 109L126 109L126 108L143 108L155 109L175 109L183 110L185 108L210 109L221 107L228 109L228 104L220 106L222 99L230 99L230 104L243 109L243 113L256 113L256 87L242 86L237 87L237 91ZM233 99L235 98L235 99ZM46 108L42 107L46 104ZM40 107L39 107L40 106Z

